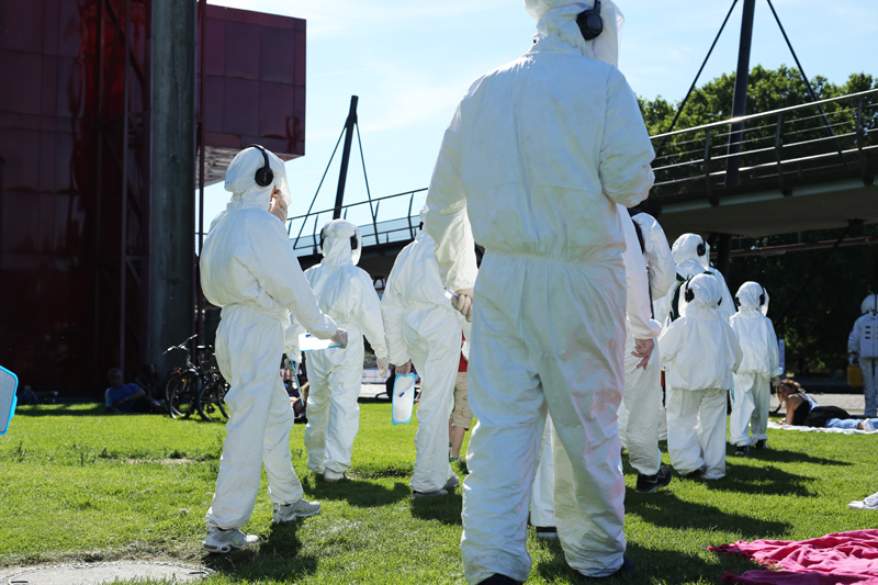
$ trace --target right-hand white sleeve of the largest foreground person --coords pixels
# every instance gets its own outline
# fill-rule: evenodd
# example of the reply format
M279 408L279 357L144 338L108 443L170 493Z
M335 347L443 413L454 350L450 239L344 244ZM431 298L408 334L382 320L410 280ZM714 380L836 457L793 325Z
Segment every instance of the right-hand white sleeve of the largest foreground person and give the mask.
M622 74L614 69L607 85L607 111L600 145L600 184L604 193L626 207L650 194L655 176L650 134L643 123L634 92Z

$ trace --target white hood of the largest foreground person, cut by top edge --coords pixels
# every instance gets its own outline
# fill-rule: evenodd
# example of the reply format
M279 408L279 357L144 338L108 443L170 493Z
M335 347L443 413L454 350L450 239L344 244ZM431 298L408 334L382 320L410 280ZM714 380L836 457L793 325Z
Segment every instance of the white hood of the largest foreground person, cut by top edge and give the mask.
M579 33L576 16L590 8L594 0L525 0L528 13L537 19L537 34L533 38L541 48L558 47L561 50L576 47L592 59L603 60L619 67L619 45L624 16L611 0L600 2L600 18L604 32L586 41Z

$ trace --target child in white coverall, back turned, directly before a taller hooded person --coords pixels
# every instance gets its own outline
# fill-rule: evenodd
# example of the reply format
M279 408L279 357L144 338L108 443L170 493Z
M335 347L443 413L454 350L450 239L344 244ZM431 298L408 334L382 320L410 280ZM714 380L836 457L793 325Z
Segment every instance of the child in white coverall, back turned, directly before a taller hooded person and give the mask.
M667 454L682 476L725 476L725 393L741 346L720 315L722 284L698 274L683 285L686 314L658 337L667 385Z

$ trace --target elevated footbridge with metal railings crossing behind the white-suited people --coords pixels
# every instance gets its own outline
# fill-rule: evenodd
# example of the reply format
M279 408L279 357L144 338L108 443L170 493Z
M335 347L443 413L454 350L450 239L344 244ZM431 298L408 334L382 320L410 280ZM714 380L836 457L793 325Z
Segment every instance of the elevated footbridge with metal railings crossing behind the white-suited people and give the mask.
M873 224L876 138L878 90L653 136L655 185L642 209L669 243L687 232L742 238ZM426 198L419 189L342 209L363 235L359 266L376 280L414 238ZM303 269L319 262L333 211L290 220Z

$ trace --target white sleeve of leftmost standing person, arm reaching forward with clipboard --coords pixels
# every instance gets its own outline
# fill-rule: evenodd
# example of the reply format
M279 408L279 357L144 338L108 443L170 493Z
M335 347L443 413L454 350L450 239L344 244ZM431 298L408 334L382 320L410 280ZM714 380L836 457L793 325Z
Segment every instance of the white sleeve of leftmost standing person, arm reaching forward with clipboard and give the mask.
M338 330L336 322L325 315L311 290L299 259L293 255L283 224L270 217L254 234L254 265L250 267L259 285L314 337L329 339Z

